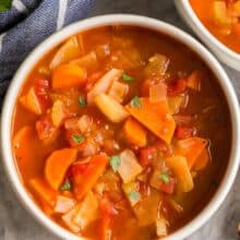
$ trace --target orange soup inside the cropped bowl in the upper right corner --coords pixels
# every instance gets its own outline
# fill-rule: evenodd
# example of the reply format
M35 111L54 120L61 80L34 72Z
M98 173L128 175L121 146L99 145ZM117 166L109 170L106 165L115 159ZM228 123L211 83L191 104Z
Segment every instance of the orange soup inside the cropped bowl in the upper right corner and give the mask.
M214 36L240 53L240 0L190 0L190 3Z

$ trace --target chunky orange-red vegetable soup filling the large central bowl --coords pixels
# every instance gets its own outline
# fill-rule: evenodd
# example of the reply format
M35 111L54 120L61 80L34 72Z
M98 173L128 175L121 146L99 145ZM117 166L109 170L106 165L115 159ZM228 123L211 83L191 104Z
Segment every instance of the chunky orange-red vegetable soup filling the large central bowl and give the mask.
M225 96L188 47L112 25L70 37L15 104L23 184L53 221L96 240L163 238L196 216L230 154Z

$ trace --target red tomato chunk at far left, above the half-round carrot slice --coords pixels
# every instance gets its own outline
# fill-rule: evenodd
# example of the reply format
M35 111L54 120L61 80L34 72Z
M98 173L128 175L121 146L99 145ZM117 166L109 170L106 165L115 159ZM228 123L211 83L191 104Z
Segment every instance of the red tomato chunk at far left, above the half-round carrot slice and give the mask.
M50 116L46 115L36 122L36 130L39 140L51 140L57 131Z

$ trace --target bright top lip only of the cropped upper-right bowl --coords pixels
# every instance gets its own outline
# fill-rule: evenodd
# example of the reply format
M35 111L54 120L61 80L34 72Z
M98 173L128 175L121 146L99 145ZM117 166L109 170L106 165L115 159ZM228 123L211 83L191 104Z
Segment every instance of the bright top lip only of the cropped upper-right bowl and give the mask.
M185 10L189 21L193 22L196 28L192 28L193 32L195 32L199 37L205 43L206 39L211 41L212 45L216 46L223 53L228 55L230 58L235 59L235 61L239 61L240 63L240 53L233 51L229 47L227 47L225 44L223 44L220 40L218 40L217 37L215 37L201 22L201 20L197 17L195 11L193 10L190 0L175 0L176 4L182 4L182 8ZM197 31L199 29L199 31ZM201 34L200 34L200 33ZM204 39L205 38L205 39ZM206 44L208 46L208 44ZM209 47L212 49L212 47Z

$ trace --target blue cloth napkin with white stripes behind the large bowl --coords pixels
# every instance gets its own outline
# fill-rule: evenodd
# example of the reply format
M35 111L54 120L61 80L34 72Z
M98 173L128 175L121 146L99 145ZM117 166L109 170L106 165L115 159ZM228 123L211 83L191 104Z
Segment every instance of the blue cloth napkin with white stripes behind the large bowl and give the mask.
M10 10L0 12L0 106L28 52L52 33L86 16L93 1L13 0Z

